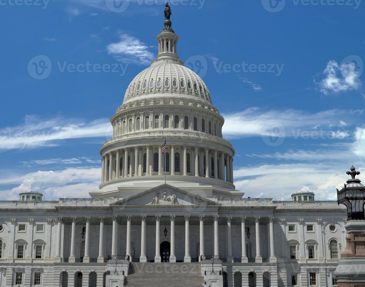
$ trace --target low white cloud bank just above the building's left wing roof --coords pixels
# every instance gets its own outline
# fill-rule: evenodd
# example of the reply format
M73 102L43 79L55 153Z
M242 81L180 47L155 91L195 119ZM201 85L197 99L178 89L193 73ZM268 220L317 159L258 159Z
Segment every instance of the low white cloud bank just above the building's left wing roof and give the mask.
M19 193L33 190L43 193L44 200L59 197L89 197L89 192L99 188L101 168L67 168L58 171L38 171L20 176L0 178L0 185L17 185L12 189L0 189L0 197L16 200Z

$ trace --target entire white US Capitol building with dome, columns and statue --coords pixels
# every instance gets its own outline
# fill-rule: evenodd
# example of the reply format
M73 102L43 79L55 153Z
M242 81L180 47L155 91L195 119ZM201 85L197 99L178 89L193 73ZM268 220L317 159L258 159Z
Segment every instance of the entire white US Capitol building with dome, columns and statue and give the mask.
M346 208L235 189L224 119L179 59L170 14L111 118L99 189L0 201L0 286L337 286Z

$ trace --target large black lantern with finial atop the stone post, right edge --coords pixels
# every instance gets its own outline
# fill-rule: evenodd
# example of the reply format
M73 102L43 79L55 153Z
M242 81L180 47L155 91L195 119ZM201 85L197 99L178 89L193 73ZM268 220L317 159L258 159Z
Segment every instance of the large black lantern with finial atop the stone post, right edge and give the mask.
M351 171L346 172L351 176L347 184L341 189L337 189L337 202L347 208L347 220L365 220L364 203L365 203L365 186L362 185L358 178L355 178L360 172L357 172L354 166Z

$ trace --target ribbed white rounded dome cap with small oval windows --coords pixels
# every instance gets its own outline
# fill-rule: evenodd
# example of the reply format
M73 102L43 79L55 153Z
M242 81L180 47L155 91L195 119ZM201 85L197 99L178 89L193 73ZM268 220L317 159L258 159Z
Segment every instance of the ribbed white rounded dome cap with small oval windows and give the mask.
M140 72L130 83L123 104L142 95L183 94L200 98L212 104L207 86L192 70L177 59L157 59Z

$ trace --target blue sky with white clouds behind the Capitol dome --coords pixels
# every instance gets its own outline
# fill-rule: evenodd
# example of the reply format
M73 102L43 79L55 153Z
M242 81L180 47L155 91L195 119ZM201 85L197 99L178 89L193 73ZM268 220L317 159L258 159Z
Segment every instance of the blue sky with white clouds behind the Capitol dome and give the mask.
M335 199L352 164L365 173L365 2L271 1L173 1L177 52L226 119L237 189ZM97 189L110 117L157 54L164 5L0 1L0 198Z

